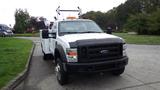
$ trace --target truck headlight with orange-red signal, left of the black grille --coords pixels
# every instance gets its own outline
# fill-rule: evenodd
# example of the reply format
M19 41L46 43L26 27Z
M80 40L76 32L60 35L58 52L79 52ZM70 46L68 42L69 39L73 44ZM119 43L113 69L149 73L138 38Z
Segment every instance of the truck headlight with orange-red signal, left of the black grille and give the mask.
M66 54L67 54L67 61L68 62L78 62L78 60L77 60L77 49L68 48L66 50Z

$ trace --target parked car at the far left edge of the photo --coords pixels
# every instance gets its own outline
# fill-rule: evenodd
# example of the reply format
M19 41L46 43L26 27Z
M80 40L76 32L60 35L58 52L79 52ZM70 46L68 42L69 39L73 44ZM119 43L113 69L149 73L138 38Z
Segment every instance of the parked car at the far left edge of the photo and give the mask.
M13 32L12 29L9 28L5 24L0 24L0 36L5 37L5 36L12 36Z

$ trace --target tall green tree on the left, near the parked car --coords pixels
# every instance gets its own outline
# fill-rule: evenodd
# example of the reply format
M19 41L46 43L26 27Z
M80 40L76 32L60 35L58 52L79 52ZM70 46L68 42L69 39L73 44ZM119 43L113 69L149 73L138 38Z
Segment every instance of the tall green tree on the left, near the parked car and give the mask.
M27 10L16 9L15 11L15 25L14 29L16 33L24 33L29 25L29 13Z

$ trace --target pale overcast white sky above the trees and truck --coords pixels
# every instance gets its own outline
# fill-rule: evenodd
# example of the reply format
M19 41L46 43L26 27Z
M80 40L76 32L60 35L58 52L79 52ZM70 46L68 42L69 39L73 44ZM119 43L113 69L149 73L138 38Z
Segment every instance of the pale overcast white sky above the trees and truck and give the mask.
M57 16L56 9L77 9L79 6L82 13L88 11L107 12L117 7L126 0L2 0L0 5L0 24L15 23L14 13L16 9L27 9L30 16L43 16L50 21Z

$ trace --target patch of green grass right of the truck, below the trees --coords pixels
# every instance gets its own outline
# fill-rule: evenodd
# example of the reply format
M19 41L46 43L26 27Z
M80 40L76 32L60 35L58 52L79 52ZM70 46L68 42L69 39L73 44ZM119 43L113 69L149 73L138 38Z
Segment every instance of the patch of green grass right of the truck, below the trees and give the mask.
M129 44L160 45L160 36L131 35L127 33L113 33L113 34L122 37Z

